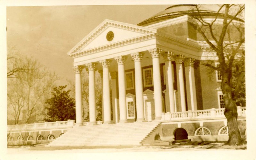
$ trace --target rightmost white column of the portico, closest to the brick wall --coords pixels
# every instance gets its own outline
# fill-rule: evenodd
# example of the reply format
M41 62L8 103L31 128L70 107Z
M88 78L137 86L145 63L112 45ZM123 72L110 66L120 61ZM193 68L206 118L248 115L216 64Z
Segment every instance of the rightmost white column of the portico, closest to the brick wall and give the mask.
M184 63L185 63L185 74L186 74L188 110L197 110L196 82L195 82L195 73L194 73L195 59L186 58Z

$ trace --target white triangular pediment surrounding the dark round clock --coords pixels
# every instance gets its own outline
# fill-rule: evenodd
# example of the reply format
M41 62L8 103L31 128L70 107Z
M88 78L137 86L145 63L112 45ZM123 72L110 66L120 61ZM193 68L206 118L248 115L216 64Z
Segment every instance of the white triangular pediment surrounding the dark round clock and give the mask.
M114 37L111 41L108 41L107 34L110 31L114 33ZM68 52L68 55L75 52L90 50L92 48L97 48L100 46L114 44L120 41L132 39L134 37L140 37L153 32L156 32L156 29L141 27L113 20L104 20L102 23L100 23L100 25L92 30L92 32L90 32L78 44L76 44Z

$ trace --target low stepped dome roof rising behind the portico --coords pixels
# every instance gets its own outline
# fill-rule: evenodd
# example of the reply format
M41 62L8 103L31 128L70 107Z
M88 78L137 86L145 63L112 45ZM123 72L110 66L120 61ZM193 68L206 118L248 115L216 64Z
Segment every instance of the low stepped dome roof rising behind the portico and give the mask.
M217 13L219 6L217 4L202 4L199 7L199 11L202 13L202 16L206 17L213 17L216 14L219 14L220 17L223 16L222 13ZM196 4L178 4L178 5L171 5L170 7L166 8L164 11L158 12L154 16L148 18L140 22L139 26L148 26L150 24L158 23L164 20L180 17L183 15L193 16L197 13ZM243 21L243 20L242 20Z

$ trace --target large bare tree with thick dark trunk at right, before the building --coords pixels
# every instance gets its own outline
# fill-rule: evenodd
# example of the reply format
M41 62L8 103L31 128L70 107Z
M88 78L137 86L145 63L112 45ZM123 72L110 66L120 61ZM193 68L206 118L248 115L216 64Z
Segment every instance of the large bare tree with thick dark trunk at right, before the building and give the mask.
M209 53L218 57L219 67L213 60L201 63L222 76L221 90L225 101L225 116L228 121L228 145L243 143L237 125L236 102L241 98L241 88L245 82L244 67L244 4L223 4L215 12L212 20L205 19L201 5L195 5L193 16L197 21L197 31L202 36L202 43L209 46ZM245 95L244 95L245 96Z

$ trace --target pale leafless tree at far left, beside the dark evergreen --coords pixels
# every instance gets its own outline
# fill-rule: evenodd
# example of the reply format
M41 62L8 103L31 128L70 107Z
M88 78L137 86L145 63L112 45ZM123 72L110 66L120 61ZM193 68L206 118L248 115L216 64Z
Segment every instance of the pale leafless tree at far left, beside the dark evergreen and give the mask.
M23 70L8 78L8 114L14 117L15 124L19 123L21 113L24 123L42 120L44 102L59 77L32 58L15 56L15 59L19 62L16 66L22 66Z

